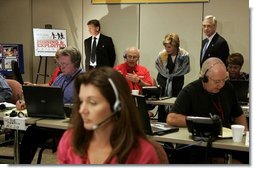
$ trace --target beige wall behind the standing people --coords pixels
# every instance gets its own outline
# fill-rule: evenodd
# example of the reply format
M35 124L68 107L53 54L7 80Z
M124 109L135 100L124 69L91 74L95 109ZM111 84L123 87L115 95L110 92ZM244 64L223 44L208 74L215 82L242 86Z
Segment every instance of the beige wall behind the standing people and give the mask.
M91 19L98 19L101 33L112 38L116 53L114 65L123 63L126 48L135 46L140 49L139 64L145 66L154 79L158 73L155 60L164 49L163 39L169 33L177 33L180 47L189 53L190 71L184 76L183 85L186 86L200 77L200 52L205 39L202 20L206 15L214 15L218 21L217 32L227 40L230 53L241 53L244 57L241 71L250 73L251 11L248 0L98 2L101 1L1 0L0 42L23 45L24 81L45 83L43 76L36 81L38 71L43 74L45 64L47 74L51 75L55 69L54 57L49 57L47 63L43 58L39 69L40 57L34 52L33 29L44 29L45 25L66 30L67 45L81 52L81 67L85 69L84 40L91 36L87 28ZM50 76L46 77L48 80ZM46 156L56 160L56 153L52 155L51 151L45 151L48 152Z

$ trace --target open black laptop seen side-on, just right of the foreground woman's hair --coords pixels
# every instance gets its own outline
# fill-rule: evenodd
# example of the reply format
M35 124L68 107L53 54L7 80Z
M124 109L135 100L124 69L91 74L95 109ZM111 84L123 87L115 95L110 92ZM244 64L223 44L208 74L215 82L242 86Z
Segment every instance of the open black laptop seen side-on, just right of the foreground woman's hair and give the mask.
M133 95L136 107L140 113L143 128L148 135L164 135L167 133L177 132L178 127L168 126L166 123L150 121L147 111L146 97L143 95Z

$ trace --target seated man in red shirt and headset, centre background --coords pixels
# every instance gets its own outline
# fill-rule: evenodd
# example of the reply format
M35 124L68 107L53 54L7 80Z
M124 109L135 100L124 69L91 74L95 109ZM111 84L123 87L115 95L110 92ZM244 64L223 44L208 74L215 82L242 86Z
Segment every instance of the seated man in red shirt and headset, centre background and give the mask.
M114 67L125 76L131 90L142 92L143 86L152 86L153 78L146 67L138 64L140 51L136 47L129 47L124 52L125 62Z

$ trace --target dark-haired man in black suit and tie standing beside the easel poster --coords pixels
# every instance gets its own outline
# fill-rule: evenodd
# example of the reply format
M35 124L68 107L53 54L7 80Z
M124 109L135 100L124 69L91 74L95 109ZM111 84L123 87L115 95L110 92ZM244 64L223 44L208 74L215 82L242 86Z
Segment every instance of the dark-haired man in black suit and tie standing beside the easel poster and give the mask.
M87 26L92 36L84 42L86 71L102 66L113 67L116 53L112 38L100 33L100 22L96 19L88 21Z

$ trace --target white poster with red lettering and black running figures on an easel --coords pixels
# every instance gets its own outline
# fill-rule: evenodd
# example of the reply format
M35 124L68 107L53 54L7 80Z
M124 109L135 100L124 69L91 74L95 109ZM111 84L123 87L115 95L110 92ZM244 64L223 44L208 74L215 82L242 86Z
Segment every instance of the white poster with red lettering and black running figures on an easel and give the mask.
M34 55L55 56L60 47L67 46L66 30L61 29L33 29Z

